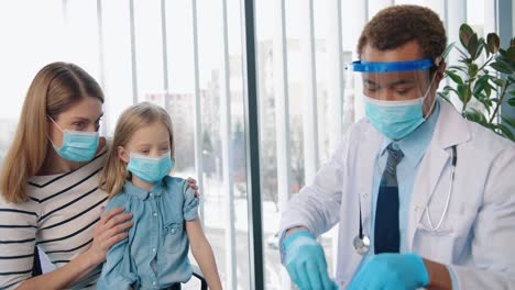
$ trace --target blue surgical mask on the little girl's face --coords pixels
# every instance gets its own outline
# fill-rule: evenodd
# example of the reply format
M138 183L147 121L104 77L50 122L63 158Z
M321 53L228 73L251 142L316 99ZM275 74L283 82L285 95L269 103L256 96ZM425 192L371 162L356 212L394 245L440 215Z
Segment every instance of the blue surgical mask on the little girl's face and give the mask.
M169 174L174 167L171 153L165 153L160 157L150 157L130 153L127 170L146 182L157 182Z

